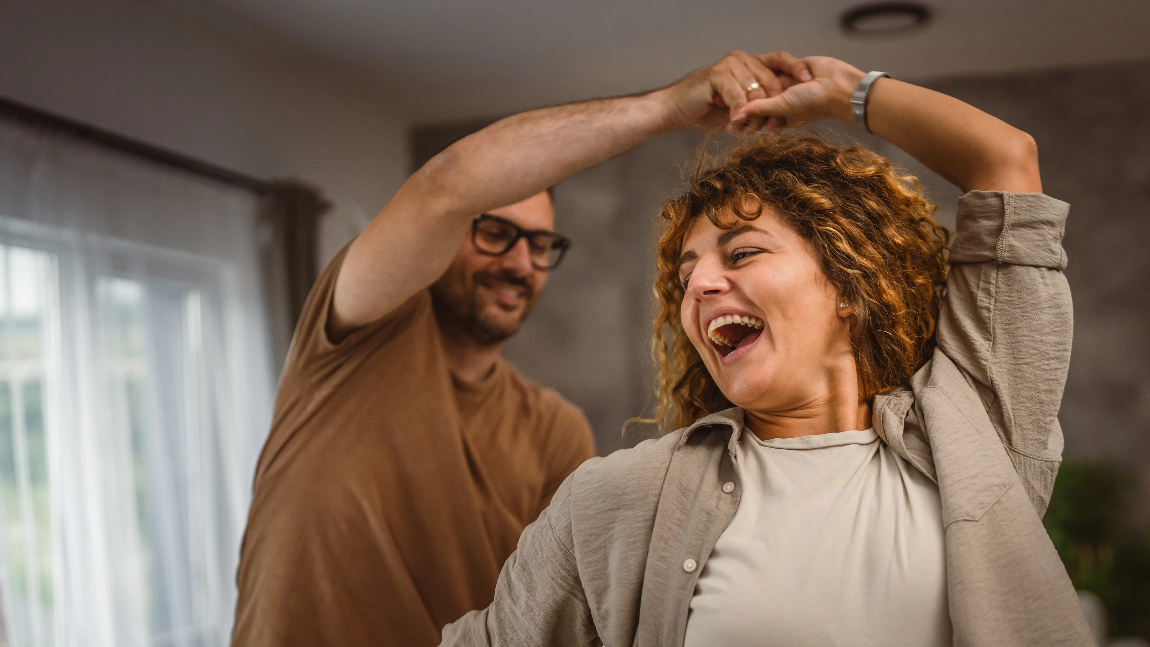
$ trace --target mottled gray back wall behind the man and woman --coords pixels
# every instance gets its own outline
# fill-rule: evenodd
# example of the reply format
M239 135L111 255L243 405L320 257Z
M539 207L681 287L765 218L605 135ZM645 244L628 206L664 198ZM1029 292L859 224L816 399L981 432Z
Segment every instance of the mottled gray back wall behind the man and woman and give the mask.
M1150 62L926 85L1037 139L1045 191L1073 205L1065 241L1075 298L1060 414L1066 455L1110 457L1150 484ZM940 204L940 220L953 223L957 189L852 127L816 128L857 137L918 175ZM575 246L506 355L583 408L600 454L645 432L621 435L623 421L653 402L656 218L700 142L698 132L675 132L557 188L557 226Z

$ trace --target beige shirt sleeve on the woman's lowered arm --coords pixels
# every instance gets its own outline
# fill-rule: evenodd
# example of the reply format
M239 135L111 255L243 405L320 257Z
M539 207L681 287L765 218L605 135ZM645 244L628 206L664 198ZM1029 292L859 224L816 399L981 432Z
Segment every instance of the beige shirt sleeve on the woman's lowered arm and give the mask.
M572 553L570 486L523 530L491 606L445 626L443 646L601 645Z

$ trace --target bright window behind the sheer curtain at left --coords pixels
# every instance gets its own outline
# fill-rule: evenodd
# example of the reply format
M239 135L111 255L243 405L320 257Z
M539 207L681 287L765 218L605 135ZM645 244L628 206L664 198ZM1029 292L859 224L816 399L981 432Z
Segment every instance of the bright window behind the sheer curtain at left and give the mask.
M40 228L29 246L0 245L9 640L68 644L74 629L106 625L109 645L125 631L138 634L129 644L221 644L229 609L213 601L231 583L213 535L224 448L204 348L221 268L115 242L105 245L113 267L76 276L85 254L64 238ZM117 264L137 274L113 272ZM61 281L61 266L78 280ZM69 606L69 589L106 600Z

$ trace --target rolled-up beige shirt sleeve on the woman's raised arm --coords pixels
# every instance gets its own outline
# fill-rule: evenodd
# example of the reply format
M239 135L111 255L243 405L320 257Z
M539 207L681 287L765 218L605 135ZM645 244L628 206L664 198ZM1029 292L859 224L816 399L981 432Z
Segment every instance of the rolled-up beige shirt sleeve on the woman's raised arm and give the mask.
M1061 460L1058 408L1073 336L1061 241L1070 205L971 191L958 206L938 348L982 398L1040 515Z

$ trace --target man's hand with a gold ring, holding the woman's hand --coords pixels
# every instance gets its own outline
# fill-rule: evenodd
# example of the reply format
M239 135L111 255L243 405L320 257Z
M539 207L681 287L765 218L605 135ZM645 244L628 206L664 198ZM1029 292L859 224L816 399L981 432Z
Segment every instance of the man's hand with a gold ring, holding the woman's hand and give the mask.
M735 51L662 92L672 104L677 125L702 125L707 130L722 125L729 130L781 128L782 117L744 108L812 79L812 71L805 61L785 52L752 56ZM742 123L731 123L736 114L743 115Z

